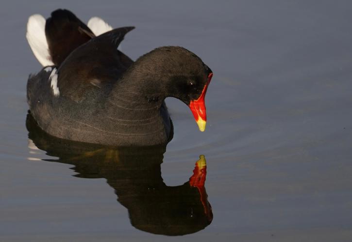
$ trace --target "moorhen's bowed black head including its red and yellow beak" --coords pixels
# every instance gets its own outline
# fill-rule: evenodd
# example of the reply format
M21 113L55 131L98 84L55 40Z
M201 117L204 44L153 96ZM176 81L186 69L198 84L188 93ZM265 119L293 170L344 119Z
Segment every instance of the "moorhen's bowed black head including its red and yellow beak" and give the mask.
M204 131L204 97L213 74L197 55L183 47L165 46L142 56L135 64L144 70L144 77L153 80L150 88L159 92L162 99L175 97L189 106L200 130Z

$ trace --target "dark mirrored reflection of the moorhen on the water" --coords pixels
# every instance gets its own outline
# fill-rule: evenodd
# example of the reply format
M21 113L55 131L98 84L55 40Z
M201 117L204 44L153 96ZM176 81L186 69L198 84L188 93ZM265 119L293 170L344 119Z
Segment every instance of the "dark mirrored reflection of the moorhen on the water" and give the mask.
M30 114L26 125L36 147L59 157L47 161L74 165L76 177L105 178L115 189L117 200L128 209L134 227L154 234L184 235L211 223L204 156L196 162L189 181L167 186L160 169L164 145L117 149L68 141L43 132Z

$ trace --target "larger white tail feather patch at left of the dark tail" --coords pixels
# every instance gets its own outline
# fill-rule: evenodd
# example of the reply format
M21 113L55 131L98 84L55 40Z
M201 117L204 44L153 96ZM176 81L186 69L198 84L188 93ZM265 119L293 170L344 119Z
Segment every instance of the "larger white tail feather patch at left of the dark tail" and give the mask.
M27 22L27 40L36 59L43 66L54 65L49 54L45 36L45 18L42 15L32 15Z

